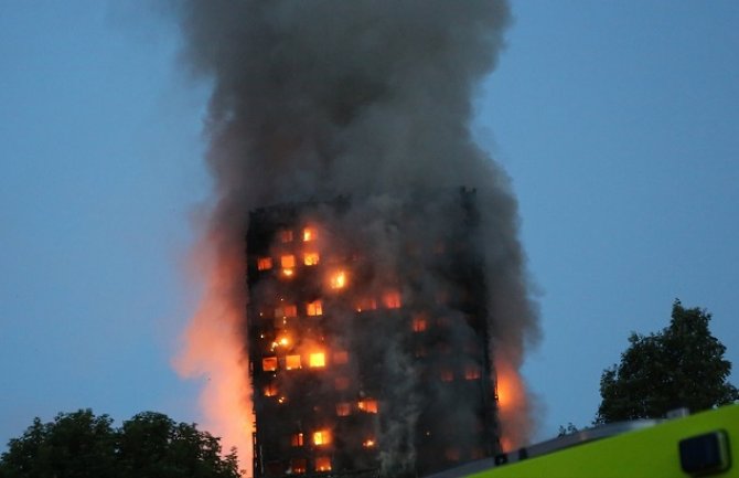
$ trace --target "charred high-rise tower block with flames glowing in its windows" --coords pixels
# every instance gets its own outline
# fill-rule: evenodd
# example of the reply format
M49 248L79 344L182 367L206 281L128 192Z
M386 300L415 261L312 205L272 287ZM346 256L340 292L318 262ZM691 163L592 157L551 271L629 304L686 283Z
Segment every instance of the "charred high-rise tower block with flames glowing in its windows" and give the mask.
M500 450L473 190L261 208L254 476L424 476Z

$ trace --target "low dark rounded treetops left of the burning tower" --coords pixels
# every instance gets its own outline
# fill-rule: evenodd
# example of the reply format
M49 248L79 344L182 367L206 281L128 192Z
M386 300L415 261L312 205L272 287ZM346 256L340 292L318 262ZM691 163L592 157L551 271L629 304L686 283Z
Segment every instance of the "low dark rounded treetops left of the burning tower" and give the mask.
M111 426L90 410L39 418L0 457L0 478L237 478L235 452L194 425L144 412Z

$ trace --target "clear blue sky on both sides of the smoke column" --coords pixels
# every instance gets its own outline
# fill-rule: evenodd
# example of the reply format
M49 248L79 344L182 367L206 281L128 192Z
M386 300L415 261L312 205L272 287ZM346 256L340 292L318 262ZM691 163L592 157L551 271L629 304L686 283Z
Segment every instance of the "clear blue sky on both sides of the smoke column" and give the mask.
M171 360L199 297L208 85L141 4L0 0L0 444L81 407L201 419ZM739 3L512 9L473 129L520 201L546 439L590 424L603 369L675 298L739 367Z

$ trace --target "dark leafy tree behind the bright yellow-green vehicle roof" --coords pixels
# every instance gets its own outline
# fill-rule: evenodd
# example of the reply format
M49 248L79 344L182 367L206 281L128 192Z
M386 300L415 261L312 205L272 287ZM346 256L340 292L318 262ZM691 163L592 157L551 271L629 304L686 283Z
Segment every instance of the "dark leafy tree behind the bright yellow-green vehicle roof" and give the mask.
M670 327L658 333L629 337L621 363L600 379L602 401L596 423L662 417L671 410L692 412L739 400L727 379L726 347L708 330L710 314L673 304Z

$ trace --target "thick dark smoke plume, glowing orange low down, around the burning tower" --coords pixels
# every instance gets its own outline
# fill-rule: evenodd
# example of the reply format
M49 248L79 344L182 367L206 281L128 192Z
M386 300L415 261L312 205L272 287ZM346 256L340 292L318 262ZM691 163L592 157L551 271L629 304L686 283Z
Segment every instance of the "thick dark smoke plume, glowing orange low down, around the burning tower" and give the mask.
M479 83L504 46L507 3L182 0L173 9L186 67L213 82L205 128L215 192L194 252L207 257L206 286L175 361L184 375L210 378L205 425L249 463L249 211L463 185L478 191L504 442L526 442L532 413L518 370L538 338L536 304L508 179L470 131Z

